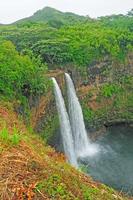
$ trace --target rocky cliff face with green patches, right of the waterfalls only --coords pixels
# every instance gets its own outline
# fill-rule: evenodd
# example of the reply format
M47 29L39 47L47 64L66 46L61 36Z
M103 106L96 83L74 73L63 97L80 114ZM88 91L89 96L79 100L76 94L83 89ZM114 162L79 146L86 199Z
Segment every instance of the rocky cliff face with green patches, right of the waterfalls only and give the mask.
M87 85L78 92L85 121L92 126L133 121L133 53L125 62L104 58L87 70Z

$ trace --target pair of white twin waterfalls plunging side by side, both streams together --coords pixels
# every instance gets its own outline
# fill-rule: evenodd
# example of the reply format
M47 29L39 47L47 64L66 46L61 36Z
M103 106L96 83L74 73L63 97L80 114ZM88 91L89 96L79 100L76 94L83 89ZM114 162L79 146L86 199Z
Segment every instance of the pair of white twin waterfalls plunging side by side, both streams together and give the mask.
M59 114L60 130L63 139L65 155L68 161L75 167L78 167L77 159L80 156L92 151L90 141L87 137L82 109L76 95L74 84L69 74L65 73L68 95L68 113L65 107L61 90L55 78L54 93L56 106Z

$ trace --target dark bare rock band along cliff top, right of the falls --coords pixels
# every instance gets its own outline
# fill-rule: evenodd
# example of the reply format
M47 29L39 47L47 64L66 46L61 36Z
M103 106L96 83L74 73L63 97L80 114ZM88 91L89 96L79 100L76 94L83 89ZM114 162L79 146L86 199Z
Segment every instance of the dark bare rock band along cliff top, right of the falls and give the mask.
M133 52L130 52L125 61L112 60L108 56L93 62L90 66L77 70L75 66L66 66L77 88L88 85L99 85L119 81L121 76L133 75Z

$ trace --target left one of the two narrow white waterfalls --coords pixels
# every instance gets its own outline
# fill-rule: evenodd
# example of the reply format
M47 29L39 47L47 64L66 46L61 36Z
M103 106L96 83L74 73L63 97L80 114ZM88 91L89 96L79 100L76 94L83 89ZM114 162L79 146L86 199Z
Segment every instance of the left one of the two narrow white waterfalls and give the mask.
M66 111L64 99L61 90L55 78L52 78L54 83L54 93L56 99L56 106L59 114L60 130L63 140L63 147L68 161L75 167L78 167L77 157L75 155L74 144L69 117Z

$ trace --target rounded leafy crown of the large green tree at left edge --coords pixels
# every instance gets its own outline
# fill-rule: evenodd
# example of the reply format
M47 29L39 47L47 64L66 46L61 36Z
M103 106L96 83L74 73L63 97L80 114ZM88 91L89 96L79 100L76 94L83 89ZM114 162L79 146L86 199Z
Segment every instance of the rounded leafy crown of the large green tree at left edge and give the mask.
M20 55L10 41L0 42L0 92L14 99L46 92L46 66ZM42 75L44 73L44 77Z

